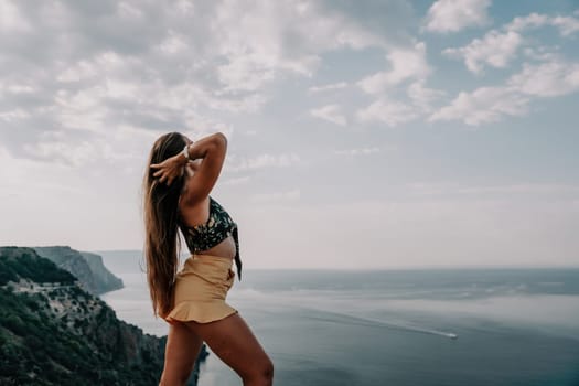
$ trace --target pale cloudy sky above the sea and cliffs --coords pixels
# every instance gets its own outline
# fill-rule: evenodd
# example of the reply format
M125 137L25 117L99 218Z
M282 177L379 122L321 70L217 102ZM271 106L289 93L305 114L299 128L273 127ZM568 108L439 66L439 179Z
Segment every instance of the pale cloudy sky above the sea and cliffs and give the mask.
M141 249L221 131L251 268L579 266L577 0L0 0L0 245Z

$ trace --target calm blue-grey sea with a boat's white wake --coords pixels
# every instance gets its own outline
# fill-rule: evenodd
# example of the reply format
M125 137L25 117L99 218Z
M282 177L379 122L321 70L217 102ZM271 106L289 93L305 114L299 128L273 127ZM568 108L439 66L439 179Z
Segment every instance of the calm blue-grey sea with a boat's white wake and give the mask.
M98 251L101 298L154 335L138 251ZM280 386L579 386L579 268L244 269L227 302ZM242 385L211 352L200 386Z

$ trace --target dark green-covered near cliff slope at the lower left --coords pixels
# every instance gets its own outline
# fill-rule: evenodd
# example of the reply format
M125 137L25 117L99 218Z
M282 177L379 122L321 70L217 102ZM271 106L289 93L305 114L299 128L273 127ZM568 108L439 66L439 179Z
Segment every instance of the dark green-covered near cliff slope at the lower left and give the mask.
M34 248L0 247L0 385L158 384L165 337L118 320L78 282Z

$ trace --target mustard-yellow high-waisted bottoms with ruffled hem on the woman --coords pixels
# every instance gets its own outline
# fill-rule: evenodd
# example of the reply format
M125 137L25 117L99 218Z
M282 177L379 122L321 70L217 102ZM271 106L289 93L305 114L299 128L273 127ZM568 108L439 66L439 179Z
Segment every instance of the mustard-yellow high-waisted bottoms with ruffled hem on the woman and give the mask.
M173 309L165 320L208 323L236 313L237 310L225 302L235 280L232 267L233 259L191 255L176 274Z

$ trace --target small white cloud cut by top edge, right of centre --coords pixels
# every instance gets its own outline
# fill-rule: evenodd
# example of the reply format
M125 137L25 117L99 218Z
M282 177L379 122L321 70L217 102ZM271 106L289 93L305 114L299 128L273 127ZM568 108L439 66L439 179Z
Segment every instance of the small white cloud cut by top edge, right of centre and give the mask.
M491 0L438 0L428 10L426 30L458 32L472 25L489 22Z

